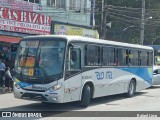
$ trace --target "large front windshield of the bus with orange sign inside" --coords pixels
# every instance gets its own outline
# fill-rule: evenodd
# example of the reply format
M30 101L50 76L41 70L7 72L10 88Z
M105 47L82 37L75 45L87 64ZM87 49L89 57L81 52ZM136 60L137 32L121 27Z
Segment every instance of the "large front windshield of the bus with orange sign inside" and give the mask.
M22 81L24 78L54 80L63 72L65 46L64 40L22 40L15 60L16 75Z

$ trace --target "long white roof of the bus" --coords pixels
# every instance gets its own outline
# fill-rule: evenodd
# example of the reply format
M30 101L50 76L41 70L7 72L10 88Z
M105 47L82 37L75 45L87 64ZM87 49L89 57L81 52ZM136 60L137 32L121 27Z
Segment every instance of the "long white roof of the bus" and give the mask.
M103 39L96 39L96 38L89 38L89 37L82 37L82 36L71 36L71 35L36 35L36 36L27 36L24 38L39 38L39 37L59 37L59 38L66 38L68 41L83 41L83 42L91 42L91 43L98 43L98 44L108 44L114 46L122 46L122 47L132 47L138 49L150 49L153 50L150 46L143 46L143 45L136 45L130 43L123 43L123 42L116 42L111 40L103 40Z

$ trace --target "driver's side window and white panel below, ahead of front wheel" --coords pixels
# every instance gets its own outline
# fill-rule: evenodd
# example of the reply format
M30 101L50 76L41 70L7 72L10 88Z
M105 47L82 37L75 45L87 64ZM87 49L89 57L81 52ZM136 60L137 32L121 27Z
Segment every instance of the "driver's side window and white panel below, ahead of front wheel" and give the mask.
M80 99L81 79L81 49L70 48L65 69L65 102L77 101Z

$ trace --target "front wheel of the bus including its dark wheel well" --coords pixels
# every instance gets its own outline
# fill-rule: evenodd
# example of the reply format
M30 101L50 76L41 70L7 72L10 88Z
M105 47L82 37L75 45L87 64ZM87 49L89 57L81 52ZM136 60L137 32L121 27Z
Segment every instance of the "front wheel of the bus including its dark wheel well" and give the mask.
M82 107L87 107L94 95L94 84L92 82L86 82L81 93L80 104Z

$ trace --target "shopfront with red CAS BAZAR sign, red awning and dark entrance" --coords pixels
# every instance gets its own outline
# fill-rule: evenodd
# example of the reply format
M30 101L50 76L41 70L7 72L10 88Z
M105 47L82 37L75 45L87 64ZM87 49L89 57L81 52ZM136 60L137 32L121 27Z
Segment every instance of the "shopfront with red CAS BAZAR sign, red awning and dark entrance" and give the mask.
M50 34L50 26L50 16L0 6L0 59L13 64L20 39Z

